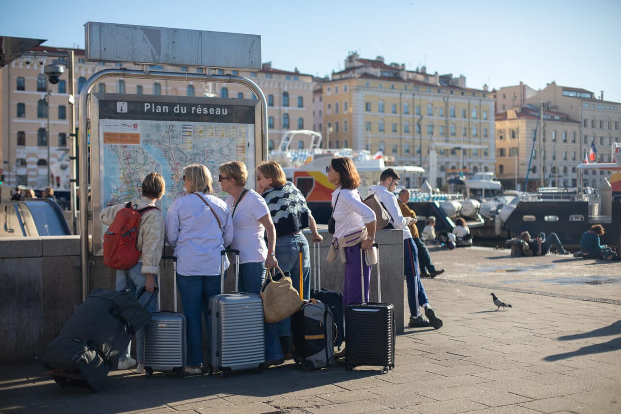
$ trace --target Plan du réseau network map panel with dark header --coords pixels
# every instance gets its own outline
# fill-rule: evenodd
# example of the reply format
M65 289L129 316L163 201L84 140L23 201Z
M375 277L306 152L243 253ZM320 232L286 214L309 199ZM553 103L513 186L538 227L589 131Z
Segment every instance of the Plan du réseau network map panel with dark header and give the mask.
M218 182L219 166L242 161L254 188L261 161L260 101L130 94L93 94L91 110L91 202L93 252L101 255L105 226L99 212L107 205L140 196L148 173L160 173L166 194L156 205L168 207L184 196L183 168L204 164L214 195L226 199Z

